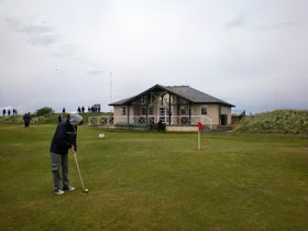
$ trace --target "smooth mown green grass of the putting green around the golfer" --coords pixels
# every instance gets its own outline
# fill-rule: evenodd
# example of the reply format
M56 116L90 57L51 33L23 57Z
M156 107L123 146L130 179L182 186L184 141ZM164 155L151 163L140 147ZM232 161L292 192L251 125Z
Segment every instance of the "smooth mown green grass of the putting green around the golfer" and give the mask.
M0 230L307 230L307 139L81 127L59 196L54 131L0 124Z

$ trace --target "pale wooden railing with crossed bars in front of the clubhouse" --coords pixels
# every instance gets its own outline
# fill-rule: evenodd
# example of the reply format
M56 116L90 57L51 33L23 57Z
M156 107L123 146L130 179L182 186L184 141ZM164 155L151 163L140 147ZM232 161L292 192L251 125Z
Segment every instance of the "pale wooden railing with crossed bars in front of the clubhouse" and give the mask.
M209 129L213 129L212 120L206 116L191 116L189 121L189 116L172 116L170 125L197 125L198 122L205 124ZM169 117L162 116L147 116L147 121L145 116L130 116L130 123L158 123L160 120L166 125L169 124ZM100 116L100 117L89 117L89 125L103 125L112 127L119 122L128 122L128 116Z

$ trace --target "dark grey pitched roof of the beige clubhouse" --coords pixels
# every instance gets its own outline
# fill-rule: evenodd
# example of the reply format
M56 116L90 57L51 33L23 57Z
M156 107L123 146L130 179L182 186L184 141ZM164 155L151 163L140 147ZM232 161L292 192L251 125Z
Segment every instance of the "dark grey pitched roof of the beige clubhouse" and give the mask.
M162 86L162 85L155 85L154 87L152 87L134 97L123 99L123 100L120 100L117 102L112 102L109 106L130 105L132 101L139 99L140 97L142 97L153 90L157 90L157 89L167 91L169 94L184 98L184 99L188 100L190 103L220 103L220 105L234 107L233 105L230 105L229 102L215 98L210 95L207 95L207 94L199 91L195 88L191 88L189 86Z

